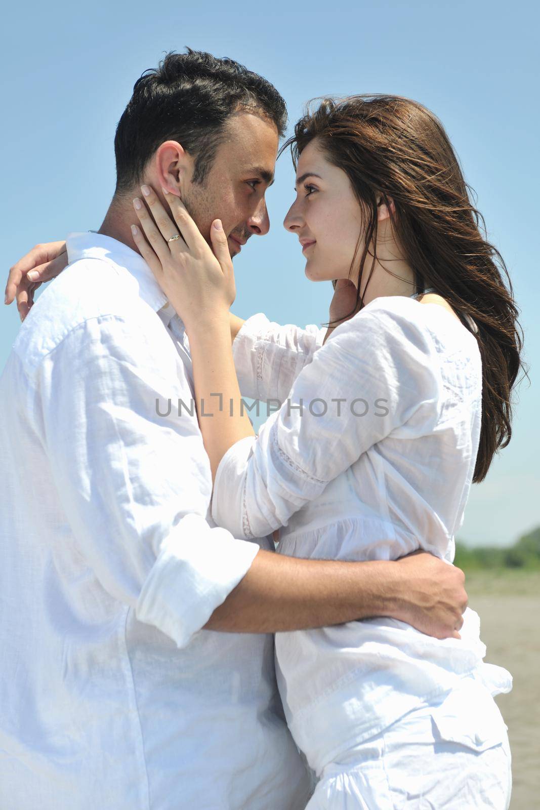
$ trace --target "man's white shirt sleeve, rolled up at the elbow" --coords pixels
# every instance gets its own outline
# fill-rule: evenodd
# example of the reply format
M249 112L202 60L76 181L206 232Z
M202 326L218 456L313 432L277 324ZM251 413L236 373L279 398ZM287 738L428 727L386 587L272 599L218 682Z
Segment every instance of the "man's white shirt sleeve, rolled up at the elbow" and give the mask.
M206 521L210 463L184 367L159 319L144 327L102 316L74 328L40 364L36 407L80 554L181 647L259 547Z

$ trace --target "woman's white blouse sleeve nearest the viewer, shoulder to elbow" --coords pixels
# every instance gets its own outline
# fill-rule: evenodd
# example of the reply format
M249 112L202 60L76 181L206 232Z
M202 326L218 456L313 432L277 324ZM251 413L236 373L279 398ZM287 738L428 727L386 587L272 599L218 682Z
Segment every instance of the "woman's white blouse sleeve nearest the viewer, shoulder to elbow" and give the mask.
M431 433L440 413L439 368L431 333L396 305L364 309L338 326L258 437L237 441L223 456L215 522L236 537L267 535L372 445Z

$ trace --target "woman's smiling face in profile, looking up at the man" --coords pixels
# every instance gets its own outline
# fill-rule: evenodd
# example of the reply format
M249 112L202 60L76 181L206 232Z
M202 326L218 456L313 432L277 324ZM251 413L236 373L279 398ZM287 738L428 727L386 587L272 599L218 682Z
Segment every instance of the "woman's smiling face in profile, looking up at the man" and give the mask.
M362 210L347 174L326 160L314 139L300 155L296 200L283 222L300 239L305 274L312 281L347 279L360 232ZM357 259L362 255L359 246ZM351 279L355 284L358 279Z

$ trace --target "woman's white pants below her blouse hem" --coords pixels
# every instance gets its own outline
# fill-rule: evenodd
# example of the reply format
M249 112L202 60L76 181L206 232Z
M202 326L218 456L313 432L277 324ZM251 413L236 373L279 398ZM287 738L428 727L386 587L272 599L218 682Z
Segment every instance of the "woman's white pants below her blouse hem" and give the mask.
M503 718L467 683L326 765L306 810L508 810L511 790Z

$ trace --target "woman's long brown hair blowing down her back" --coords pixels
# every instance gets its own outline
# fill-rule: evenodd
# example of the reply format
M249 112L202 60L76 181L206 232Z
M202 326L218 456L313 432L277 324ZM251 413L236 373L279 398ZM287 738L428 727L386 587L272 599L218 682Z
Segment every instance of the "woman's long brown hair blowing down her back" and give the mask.
M483 368L482 428L473 479L478 483L495 452L512 437L512 388L521 367L526 375L523 332L508 270L480 232L482 222L486 233L485 221L471 203L472 190L449 137L422 104L402 96L369 94L324 99L317 109L308 107L281 151L291 147L296 168L313 139L326 159L347 174L365 213L350 277L358 272L358 278L364 278L369 254L369 282L376 262L377 196L388 207L391 198L393 230L413 268L415 292L435 288L478 326ZM364 293L367 283L362 285ZM360 288L358 284L356 306L347 318L364 306Z

